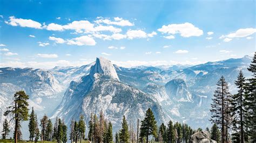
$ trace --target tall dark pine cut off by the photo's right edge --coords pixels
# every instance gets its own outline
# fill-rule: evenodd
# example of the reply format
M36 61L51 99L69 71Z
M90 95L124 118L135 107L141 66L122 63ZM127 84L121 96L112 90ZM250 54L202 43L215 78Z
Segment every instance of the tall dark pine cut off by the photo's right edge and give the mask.
M254 53L249 71L252 72L252 78L248 79L246 86L248 94L245 96L245 110L246 110L246 128L248 129L248 136L252 142L256 142L256 52Z

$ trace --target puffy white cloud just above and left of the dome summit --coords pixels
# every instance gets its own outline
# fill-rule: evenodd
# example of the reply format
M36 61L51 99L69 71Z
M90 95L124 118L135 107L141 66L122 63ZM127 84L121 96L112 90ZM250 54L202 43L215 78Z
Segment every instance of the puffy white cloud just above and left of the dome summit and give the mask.
M87 35L69 39L67 41L68 41L68 45L77 45L77 46L83 46L83 45L94 46L94 45L96 45L96 41Z

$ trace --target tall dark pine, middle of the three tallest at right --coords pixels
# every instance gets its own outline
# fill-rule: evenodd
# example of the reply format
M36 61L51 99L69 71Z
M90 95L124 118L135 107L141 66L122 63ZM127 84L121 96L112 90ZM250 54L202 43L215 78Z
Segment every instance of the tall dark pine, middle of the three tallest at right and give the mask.
M238 94L232 96L232 124L233 131L235 133L232 134L233 140L237 142L244 143L244 124L245 124L245 77L240 70L239 75L237 77L237 81L235 81L235 85L238 87Z

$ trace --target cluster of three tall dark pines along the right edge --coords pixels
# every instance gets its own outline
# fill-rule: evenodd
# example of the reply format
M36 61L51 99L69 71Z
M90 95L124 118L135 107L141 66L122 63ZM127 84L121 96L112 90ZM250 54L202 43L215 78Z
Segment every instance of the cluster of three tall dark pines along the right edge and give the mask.
M237 93L230 94L228 83L221 76L211 104L212 123L220 128L221 142L256 142L256 53L246 79L240 70L235 85ZM230 134L231 133L231 134Z

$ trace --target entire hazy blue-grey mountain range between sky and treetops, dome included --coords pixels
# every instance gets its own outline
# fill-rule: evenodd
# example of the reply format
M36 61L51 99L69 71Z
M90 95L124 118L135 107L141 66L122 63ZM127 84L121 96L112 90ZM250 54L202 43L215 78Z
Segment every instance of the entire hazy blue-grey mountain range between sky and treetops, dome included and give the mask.
M232 93L239 70L245 77L252 57L207 62L201 65L140 66L112 65L105 58L81 67L0 68L0 125L3 112L17 90L30 95L30 105L39 116L63 118L66 123L82 113L103 111L113 121L114 131L123 115L132 123L152 108L158 123L172 119L194 128L210 126L210 104L215 84L223 75ZM2 126L0 126L2 130Z

